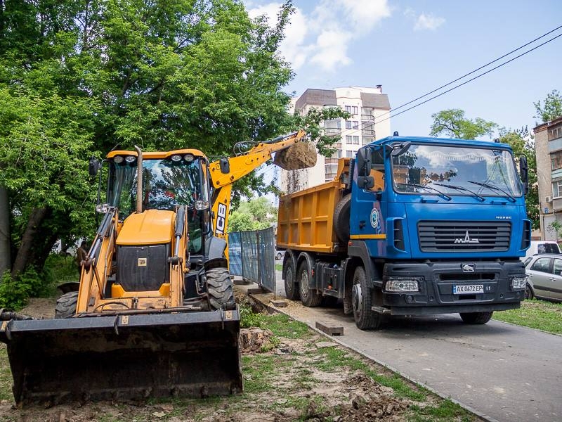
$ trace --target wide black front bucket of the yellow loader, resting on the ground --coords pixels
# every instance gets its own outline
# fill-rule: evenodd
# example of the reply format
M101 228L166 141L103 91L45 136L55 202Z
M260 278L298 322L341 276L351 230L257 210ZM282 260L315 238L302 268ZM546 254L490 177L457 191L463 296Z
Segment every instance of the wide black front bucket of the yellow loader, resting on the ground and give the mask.
M242 392L240 314L160 312L5 322L18 406Z

